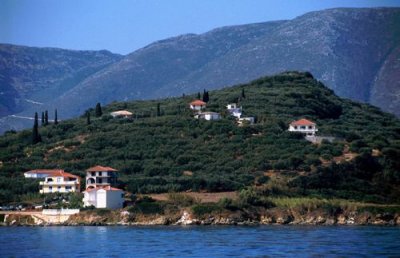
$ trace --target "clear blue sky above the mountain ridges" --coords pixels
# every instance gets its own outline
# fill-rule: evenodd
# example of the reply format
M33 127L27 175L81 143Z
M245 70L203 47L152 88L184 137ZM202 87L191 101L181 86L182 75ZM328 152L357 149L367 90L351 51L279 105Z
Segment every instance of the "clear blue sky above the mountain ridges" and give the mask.
M128 54L185 33L400 0L0 0L0 43Z

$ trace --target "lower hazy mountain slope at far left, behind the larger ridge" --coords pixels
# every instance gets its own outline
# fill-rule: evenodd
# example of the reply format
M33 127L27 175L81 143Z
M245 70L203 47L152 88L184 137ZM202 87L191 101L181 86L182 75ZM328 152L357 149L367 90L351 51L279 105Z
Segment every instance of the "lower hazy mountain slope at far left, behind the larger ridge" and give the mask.
M0 44L0 115L47 103L119 59L108 51Z

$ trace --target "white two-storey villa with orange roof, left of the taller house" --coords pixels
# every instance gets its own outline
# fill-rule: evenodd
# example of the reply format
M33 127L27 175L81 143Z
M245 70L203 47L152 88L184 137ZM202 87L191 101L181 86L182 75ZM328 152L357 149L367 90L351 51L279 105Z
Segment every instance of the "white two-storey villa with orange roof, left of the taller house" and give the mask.
M40 193L80 192L80 177L64 170L48 172L43 182L39 182Z

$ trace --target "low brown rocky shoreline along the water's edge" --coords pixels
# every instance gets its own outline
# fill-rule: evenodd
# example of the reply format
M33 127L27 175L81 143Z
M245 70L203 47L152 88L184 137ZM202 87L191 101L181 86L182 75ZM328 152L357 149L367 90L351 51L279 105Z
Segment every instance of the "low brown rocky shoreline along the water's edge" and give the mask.
M207 214L195 217L187 210L177 214L137 216L128 211L112 211L99 215L83 211L63 223L46 223L30 215L8 215L1 226L157 226L157 225L379 225L400 226L400 214L371 212L341 212L330 215L324 211L300 214L296 210L269 209L262 215L243 212Z

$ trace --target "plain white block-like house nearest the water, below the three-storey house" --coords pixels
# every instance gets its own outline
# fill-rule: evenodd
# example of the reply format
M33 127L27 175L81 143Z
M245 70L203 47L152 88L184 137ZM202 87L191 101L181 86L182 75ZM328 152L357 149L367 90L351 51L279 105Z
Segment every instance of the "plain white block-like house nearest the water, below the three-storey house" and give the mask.
M83 194L84 207L121 209L124 205L124 191L111 186L86 189Z

